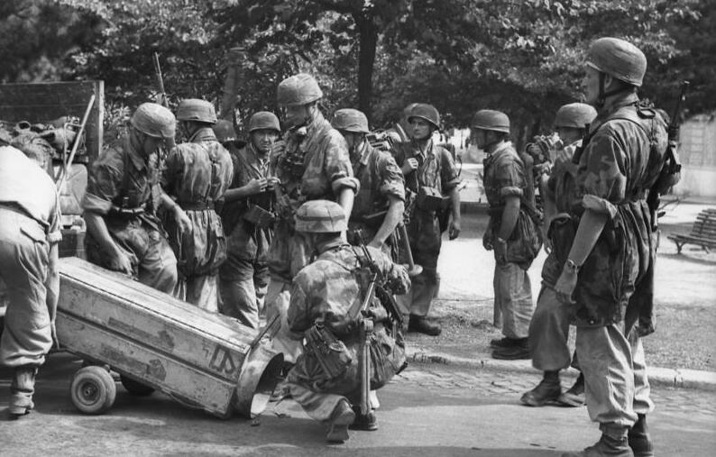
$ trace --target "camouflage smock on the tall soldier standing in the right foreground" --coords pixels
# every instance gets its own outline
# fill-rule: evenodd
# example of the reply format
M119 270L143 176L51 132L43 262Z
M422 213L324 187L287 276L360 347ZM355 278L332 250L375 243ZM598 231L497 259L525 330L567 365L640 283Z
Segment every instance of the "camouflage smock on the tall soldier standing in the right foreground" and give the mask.
M639 117L637 103L638 96L629 94L604 106L578 158L576 187L582 207L609 219L579 271L576 325L620 322L637 291L633 319L651 327L650 316L641 315L650 315L653 307L653 283L651 288L647 283L656 258L646 193L663 167L667 135L658 114ZM651 330L642 328L640 333Z

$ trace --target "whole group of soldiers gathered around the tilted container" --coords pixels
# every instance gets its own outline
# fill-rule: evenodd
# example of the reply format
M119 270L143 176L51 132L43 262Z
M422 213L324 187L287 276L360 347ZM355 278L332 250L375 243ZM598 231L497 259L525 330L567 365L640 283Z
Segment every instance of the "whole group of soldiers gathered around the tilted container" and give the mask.
M473 143L487 154L490 223L482 243L494 251L504 335L491 342L493 356L531 358L544 371L522 397L526 405L580 405L585 392L601 439L569 455L653 455L639 338L653 331L656 221L646 197L661 191L666 123L639 105L646 69L628 41L594 41L587 103L557 112L562 146L551 151L551 168L535 174L529 155L509 142L506 114L481 110L471 125ZM340 109L328 122L322 96L308 74L284 79L284 128L275 114L255 113L245 144L206 101L181 101L176 118L161 105L140 105L124 144L94 163L83 205L88 260L249 327L262 317L277 323L272 342L287 361L285 395L326 423L328 441L343 442L349 426L377 428L378 401L373 391L365 405L359 373L363 319L374 329L372 390L403 366L403 318L408 331L441 332L427 315L439 288L442 234L454 239L461 230L460 178L452 155L433 141L434 106L408 105L390 151L381 151L368 140L363 113ZM187 142L173 146L176 121ZM34 374L52 343L59 210L56 194L31 197L41 194L27 188L48 186L49 178L13 154L0 154L0 212L24 219L2 224L0 236L15 248L0 243L0 268L3 278L27 280L10 288L0 361L16 369L10 412L20 416L32 409ZM535 309L527 270L543 243ZM18 256L34 260L13 270ZM411 260L422 267L412 277L402 265ZM373 295L376 279L383 292ZM563 393L559 371L570 364L582 374Z

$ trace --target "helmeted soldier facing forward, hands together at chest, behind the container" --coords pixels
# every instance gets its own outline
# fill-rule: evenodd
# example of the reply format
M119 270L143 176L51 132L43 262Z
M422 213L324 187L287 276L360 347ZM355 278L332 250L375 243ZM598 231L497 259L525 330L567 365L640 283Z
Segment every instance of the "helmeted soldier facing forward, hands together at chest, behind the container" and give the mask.
M273 235L273 186L269 154L280 135L276 114L261 111L249 120L249 142L232 154L234 182L226 191L222 220L229 233L228 258L219 269L222 313L251 328L269 285L266 254Z

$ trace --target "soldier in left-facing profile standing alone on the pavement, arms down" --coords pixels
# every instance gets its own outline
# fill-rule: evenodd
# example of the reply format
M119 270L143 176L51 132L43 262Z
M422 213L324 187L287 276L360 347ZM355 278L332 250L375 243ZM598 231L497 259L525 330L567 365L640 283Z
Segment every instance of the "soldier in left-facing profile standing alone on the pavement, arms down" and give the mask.
M495 359L529 359L532 288L527 270L542 245L528 170L509 142L509 118L494 110L473 117L472 138L485 151L483 181L490 223L482 245L495 252L495 309L502 315L501 339L491 341Z

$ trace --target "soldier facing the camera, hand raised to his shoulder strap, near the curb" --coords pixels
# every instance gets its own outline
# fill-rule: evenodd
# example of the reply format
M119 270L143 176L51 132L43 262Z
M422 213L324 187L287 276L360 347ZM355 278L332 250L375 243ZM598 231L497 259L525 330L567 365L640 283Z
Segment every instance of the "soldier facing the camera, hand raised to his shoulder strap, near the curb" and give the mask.
M408 198L408 241L415 263L423 271L412 279L408 294L398 297L410 310L408 331L436 336L440 325L427 320L433 298L437 296L440 277L437 257L440 255L442 232L449 224L451 240L460 234L460 192L453 157L450 152L432 141L440 128L440 114L435 106L416 104L408 121L412 126L412 140L393 146L393 156L405 176ZM443 197L449 195L449 197Z

